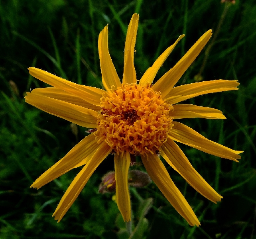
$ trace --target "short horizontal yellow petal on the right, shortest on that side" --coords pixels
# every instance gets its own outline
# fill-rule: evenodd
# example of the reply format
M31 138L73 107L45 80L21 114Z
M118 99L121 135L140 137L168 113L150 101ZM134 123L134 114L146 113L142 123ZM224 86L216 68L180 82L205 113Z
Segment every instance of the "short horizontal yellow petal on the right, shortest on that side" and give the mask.
M205 118L205 119L226 119L220 110L195 106L191 104L173 105L173 112L170 113L173 119L184 118Z

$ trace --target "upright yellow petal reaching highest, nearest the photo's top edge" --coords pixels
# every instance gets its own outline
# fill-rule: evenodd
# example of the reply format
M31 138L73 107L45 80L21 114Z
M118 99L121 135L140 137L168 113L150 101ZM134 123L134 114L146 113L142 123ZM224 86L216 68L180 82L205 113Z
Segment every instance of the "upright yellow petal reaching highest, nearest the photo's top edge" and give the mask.
M137 83L134 68L134 47L139 23L139 14L134 13L128 26L124 47L124 76L123 83Z

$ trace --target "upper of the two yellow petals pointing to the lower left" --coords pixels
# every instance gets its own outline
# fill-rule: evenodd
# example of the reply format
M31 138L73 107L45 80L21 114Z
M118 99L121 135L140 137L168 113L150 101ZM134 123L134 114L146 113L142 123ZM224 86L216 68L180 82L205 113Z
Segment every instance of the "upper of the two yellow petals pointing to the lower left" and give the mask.
M93 134L86 136L75 147L73 147L65 157L37 178L30 188L41 188L41 186L51 182L55 178L58 178L72 168L79 167L82 162L83 164L86 164L91 159L92 154L95 153L96 149L98 149L98 146L99 145L97 144Z

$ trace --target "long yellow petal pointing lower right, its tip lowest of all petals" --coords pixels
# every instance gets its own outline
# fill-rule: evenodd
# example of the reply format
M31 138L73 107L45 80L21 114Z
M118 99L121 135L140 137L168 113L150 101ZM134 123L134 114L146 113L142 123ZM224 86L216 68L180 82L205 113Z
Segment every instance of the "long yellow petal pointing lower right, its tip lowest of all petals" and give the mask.
M154 154L149 155L148 159L142 155L141 159L150 178L155 182L156 186L158 186L173 208L187 220L189 225L199 226L200 222L198 221L197 216L171 180L160 158Z

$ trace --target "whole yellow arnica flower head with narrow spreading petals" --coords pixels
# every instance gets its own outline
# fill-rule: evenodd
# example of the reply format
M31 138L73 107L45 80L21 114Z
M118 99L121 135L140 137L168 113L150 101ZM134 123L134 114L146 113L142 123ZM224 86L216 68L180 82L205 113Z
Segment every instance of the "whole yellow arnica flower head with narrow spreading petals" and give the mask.
M206 139L190 127L175 121L183 118L225 119L217 109L177 103L203 94L238 90L236 80L211 80L174 87L209 41L212 31L203 34L173 68L152 84L161 65L184 35L168 47L138 81L134 68L138 18L138 14L134 14L128 26L122 83L108 51L108 25L98 37L105 90L75 84L40 69L29 68L32 76L53 87L37 88L27 93L25 98L28 104L77 125L95 129L31 185L41 188L72 168L85 165L53 213L58 222L98 165L109 153L115 152L116 202L124 221L131 219L128 190L131 157L140 155L146 171L165 198L190 225L198 226L199 220L171 180L159 154L197 192L215 203L221 201L222 196L197 173L175 141L236 162L241 158L238 154L242 151Z

